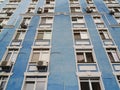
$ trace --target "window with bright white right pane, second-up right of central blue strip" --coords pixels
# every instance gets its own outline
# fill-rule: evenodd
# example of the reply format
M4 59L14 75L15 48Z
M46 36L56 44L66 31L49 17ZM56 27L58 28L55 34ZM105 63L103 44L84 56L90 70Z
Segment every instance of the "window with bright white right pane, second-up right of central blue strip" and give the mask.
M76 45L89 45L90 40L87 30L74 30L74 39Z

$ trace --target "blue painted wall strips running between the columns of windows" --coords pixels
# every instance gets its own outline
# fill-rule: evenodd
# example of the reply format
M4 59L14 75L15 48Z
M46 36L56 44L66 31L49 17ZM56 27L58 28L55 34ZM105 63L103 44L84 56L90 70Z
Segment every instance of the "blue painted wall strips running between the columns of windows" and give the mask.
M15 13L12 15L8 24L12 25L17 19L15 27L11 29L3 29L0 33L0 60L2 59L6 47L9 45L16 28L19 27L20 20L22 16L19 14L24 13L30 4L31 0L23 0ZM118 0L120 2L120 0ZM0 9L5 6L8 1L4 1L0 5ZM43 7L45 0L39 0L36 11L38 7ZM82 10L85 13L85 8L87 6L85 0L79 0ZM117 24L113 16L108 14L108 9L104 5L102 0L94 0L97 9L104 13L102 18L109 29L112 38L114 39L118 49L120 50L120 28L112 28L109 25ZM36 13L35 11L35 13ZM65 12L69 13L69 3L68 0L56 0L55 3L55 12ZM19 55L17 57L13 75L10 77L6 90L21 90L24 72L26 71L27 63L29 60L29 55L31 52L31 46L34 41L36 28L40 16L33 16L22 48L20 49ZM102 80L105 87L105 90L120 90L118 84L113 75L112 67L109 63L106 52L103 48L102 41L98 35L95 24L92 20L91 15L85 15L86 24L88 31L90 33L90 38L94 46L95 55L97 58L98 66L100 72L102 73ZM51 57L50 57L50 74L48 77L48 90L78 90L78 80L76 76L76 60L74 54L74 45L73 45L73 36L72 36L72 26L70 15L55 15L53 23L53 32L52 32L52 48L51 48ZM21 66L22 65L22 66Z

